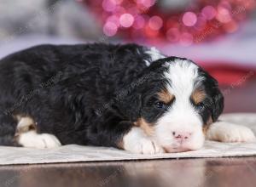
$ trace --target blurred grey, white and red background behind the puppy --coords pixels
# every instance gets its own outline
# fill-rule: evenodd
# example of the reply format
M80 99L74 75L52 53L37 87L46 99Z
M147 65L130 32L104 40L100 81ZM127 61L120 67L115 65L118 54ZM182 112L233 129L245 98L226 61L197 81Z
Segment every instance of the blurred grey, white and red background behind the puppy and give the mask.
M0 58L42 43L136 42L195 60L225 112L256 112L256 0L1 0Z

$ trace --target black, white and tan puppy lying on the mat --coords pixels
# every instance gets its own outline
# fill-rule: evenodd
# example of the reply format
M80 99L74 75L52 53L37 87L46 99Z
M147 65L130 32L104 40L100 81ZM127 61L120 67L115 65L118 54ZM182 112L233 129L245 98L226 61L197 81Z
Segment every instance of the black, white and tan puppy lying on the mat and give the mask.
M157 154L254 141L249 128L218 121L223 108L214 78L155 48L41 45L0 61L1 145Z

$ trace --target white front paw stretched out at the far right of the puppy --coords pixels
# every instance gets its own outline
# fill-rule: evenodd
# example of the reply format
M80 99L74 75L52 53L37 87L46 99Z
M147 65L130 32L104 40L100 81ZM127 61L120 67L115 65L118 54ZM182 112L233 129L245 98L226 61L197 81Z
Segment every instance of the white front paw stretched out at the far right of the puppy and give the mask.
M253 142L253 131L245 126L230 122L214 122L207 129L207 139L220 142Z

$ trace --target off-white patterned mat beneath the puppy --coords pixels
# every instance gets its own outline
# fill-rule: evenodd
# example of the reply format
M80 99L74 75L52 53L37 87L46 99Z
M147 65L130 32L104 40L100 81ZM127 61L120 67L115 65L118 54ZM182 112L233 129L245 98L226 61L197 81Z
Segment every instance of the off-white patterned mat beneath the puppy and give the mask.
M221 119L251 127L256 133L256 114L226 114ZM218 143L207 141L201 150L159 155L135 155L128 151L105 147L79 146L75 144L56 149L34 150L0 146L0 165L25 163L54 163L72 161L119 161L184 157L256 156L256 143Z

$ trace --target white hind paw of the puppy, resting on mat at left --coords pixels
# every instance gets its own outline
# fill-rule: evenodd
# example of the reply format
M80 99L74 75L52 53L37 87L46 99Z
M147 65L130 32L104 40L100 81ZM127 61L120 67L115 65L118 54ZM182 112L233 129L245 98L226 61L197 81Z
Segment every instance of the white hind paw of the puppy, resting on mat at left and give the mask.
M49 133L38 134L35 131L20 134L18 143L24 147L38 149L55 148L61 146L61 142L54 135Z

